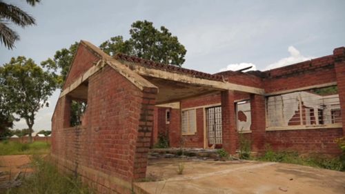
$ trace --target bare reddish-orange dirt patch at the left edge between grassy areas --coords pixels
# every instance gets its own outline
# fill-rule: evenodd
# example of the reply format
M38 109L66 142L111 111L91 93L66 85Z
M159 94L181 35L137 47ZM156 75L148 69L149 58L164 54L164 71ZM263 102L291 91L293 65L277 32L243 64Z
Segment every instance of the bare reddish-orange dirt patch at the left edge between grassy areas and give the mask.
M14 180L19 172L25 176L32 172L30 168L30 155L1 155L0 156L0 192L6 184Z

